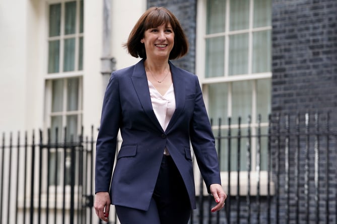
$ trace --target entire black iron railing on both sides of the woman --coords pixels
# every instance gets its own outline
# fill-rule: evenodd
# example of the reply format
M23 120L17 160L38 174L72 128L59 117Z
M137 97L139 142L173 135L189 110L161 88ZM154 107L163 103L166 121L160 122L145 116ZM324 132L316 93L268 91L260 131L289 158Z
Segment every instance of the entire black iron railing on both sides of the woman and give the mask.
M212 213L200 179L190 223L336 223L335 118L306 113L254 122L212 121L228 198ZM0 224L103 223L93 211L94 128L85 138L53 133L3 134Z

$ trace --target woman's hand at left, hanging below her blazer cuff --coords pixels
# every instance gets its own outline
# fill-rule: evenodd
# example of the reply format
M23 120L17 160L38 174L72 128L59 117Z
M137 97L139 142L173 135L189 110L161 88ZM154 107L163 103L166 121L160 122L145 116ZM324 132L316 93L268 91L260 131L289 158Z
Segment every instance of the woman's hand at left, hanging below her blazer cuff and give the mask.
M97 216L107 222L110 210L110 195L108 192L96 193L94 208Z

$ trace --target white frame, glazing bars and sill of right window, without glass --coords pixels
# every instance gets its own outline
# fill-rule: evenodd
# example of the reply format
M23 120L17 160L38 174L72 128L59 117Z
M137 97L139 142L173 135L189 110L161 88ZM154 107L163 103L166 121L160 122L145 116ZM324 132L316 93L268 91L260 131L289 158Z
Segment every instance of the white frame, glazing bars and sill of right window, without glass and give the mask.
M206 23L207 23L207 0L197 0L197 19L196 19L196 74L200 80L200 85L203 88L203 94L205 99L206 107L208 108L208 85L215 84L215 83L228 83L229 94L228 94L228 108L227 114L228 117L232 117L232 108L231 108L231 88L232 83L236 81L254 81L253 84L253 95L252 95L252 113L251 113L251 135L256 135L258 121L257 121L257 114L256 114L256 86L257 80L261 79L271 79L272 72L261 72L261 73L254 73L252 75L252 33L255 31L263 31L263 30L272 30L272 26L262 27L262 28L252 28L253 27L253 14L250 13L249 18L249 29L246 30L239 30L239 31L229 31L229 10L230 10L230 1L226 1L226 30L223 33L217 34L206 34ZM254 0L249 0L253 2ZM250 4L250 12L253 12L253 4ZM248 73L247 74L239 74L235 76L228 75L228 58L229 58L229 35L232 34L239 34L239 33L248 33L249 35L249 49L248 49ZM213 77L213 78L206 78L205 76L205 64L206 64L206 38L207 37L216 37L216 36L225 36L225 69L224 69L224 76L223 77ZM243 119L243 118L242 118ZM225 121L223 122L225 123ZM242 123L241 128L248 127L247 123ZM261 122L260 127L268 127L268 122ZM219 126L217 125L217 121L214 122L213 127L214 130L217 130ZM232 124L231 128L238 128L238 124ZM228 129L228 125L221 125L221 129ZM236 133L232 133L232 135L236 135ZM246 133L242 133L242 135L246 135ZM251 171L250 171L250 194L256 195L257 194L257 178L259 178L259 186L260 186L260 195L266 195L267 193L267 171L259 171L256 166L256 138L251 139ZM242 151L245 153L245 146L242 145ZM254 156L253 156L254 155ZM240 195L246 195L248 189L248 182L247 182L248 172L241 171L240 172ZM274 183L272 181L272 176L270 177L270 186L271 186L271 194L275 193ZM222 171L221 172L221 179L224 189L228 189L228 172ZM196 175L196 180L198 180L198 175ZM231 195L237 194L237 172L231 171ZM199 186L196 186L196 192L199 192ZM204 195L207 195L207 191L204 188Z

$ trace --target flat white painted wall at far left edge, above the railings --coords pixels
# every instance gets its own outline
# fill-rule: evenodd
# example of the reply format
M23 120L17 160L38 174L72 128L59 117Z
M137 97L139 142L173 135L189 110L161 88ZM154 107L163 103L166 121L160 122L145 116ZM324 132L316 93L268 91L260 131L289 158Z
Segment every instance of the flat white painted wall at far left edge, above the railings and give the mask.
M1 132L25 127L27 4L24 0L0 4Z

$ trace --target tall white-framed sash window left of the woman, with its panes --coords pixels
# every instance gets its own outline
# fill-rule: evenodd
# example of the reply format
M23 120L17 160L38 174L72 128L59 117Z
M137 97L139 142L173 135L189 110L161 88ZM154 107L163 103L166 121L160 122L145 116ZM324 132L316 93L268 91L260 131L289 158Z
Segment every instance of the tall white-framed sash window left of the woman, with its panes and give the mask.
M80 0L64 1L48 7L45 125L50 127L51 143L75 142L79 140L81 133L83 4ZM64 127L66 127L66 133L64 133ZM72 161L70 152L70 149L65 147L51 148L48 158L49 185L70 184L70 163ZM77 152L74 161L81 163L80 158ZM65 174L64 178L63 174ZM80 179L77 178L77 180Z

